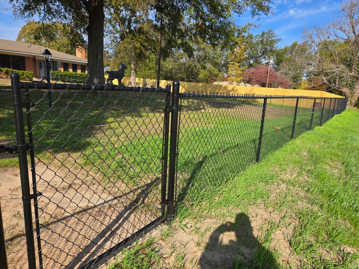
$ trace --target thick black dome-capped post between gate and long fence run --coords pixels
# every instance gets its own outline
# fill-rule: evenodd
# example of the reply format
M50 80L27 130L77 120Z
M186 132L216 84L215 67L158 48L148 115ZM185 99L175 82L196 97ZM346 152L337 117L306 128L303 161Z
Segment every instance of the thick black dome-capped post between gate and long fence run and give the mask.
M177 132L178 132L178 110L180 101L180 81L175 80L172 84L172 106L171 106L171 133L169 138L169 170L168 170L168 192L167 192L167 223L173 220L174 214L174 181L176 178L177 159Z

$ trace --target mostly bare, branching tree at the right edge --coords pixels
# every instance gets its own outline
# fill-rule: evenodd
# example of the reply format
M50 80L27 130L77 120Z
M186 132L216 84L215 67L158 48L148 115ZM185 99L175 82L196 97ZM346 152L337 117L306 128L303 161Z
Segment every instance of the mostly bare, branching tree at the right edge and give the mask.
M308 79L317 78L328 89L341 91L353 106L359 96L359 1L347 0L340 8L340 15L329 24L303 30L311 48L302 66L307 66Z

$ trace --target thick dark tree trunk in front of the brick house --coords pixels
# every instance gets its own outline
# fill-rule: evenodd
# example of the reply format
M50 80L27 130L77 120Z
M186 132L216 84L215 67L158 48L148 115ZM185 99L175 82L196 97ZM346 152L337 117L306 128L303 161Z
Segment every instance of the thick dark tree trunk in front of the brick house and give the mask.
M91 83L97 83L99 80L104 83L103 27L105 14L103 0L93 1L88 14L89 24L86 28L88 34L88 79Z

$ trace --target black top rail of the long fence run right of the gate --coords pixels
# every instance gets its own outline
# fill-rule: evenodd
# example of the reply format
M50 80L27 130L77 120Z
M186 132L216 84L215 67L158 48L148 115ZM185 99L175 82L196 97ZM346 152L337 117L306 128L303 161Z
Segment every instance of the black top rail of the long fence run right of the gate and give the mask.
M338 97L314 97L314 96L287 96L287 95L245 95L245 94L224 94L224 93L180 93L180 98L235 98L235 99L338 99L345 98L344 96Z

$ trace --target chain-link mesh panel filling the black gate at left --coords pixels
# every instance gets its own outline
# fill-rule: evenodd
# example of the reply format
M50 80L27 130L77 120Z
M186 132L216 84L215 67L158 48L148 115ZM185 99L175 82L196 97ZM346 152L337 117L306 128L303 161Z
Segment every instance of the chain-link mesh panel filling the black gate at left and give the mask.
M167 89L29 88L40 267L81 268L163 217Z

